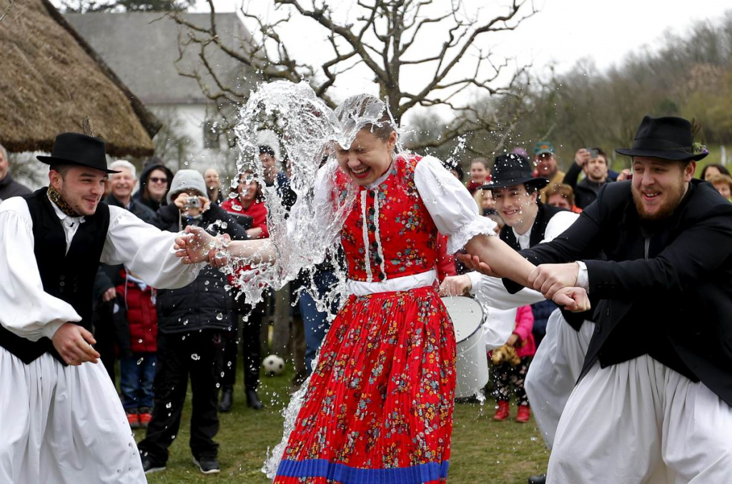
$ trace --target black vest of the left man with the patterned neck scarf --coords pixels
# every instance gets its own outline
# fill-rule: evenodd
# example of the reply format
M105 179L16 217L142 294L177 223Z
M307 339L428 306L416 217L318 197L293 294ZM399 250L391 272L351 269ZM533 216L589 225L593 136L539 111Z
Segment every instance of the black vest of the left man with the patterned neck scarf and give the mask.
M75 324L91 331L94 279L107 240L109 207L100 203L94 215L84 217L66 253L66 232L46 192L44 187L23 197L33 221L34 254L43 290L69 303L81 316L81 322ZM47 351L64 363L48 338L30 341L0 326L0 346L23 363L31 363Z

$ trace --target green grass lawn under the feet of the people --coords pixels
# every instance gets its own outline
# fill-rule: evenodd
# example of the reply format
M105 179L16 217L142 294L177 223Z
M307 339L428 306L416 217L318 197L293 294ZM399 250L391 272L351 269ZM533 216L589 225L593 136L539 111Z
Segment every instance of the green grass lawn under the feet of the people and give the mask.
M259 396L266 407L255 411L246 406L239 374L234 409L231 413L220 414L216 440L221 445L221 473L208 476L201 474L191 461L188 447L189 391L181 430L170 449L168 469L149 474L149 483L269 482L259 469L267 447L274 447L282 438L283 417L280 412L289 398L290 377L291 373L264 377ZM526 477L546 469L549 454L534 420L528 424L513 420L496 422L492 419L493 412L492 400L482 407L479 404L456 405L449 483L524 484ZM512 417L515 417L515 407L512 408ZM135 436L139 442L144 431L135 431Z

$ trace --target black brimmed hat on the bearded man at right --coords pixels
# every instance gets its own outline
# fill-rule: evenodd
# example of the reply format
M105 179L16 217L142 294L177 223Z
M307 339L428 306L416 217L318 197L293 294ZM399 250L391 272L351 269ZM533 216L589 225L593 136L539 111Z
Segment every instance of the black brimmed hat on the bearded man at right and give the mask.
M661 159L693 159L695 161L699 161L709 154L701 145L695 149L691 123L684 118L674 116L643 117L641 126L635 133L632 148L618 148L615 151L627 156L653 156Z

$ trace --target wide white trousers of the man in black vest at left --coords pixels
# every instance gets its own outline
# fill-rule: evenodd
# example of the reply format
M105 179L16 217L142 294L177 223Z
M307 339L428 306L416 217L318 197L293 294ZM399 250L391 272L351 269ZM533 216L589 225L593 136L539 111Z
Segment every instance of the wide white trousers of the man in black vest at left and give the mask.
M0 347L0 483L146 483L102 363L26 365Z

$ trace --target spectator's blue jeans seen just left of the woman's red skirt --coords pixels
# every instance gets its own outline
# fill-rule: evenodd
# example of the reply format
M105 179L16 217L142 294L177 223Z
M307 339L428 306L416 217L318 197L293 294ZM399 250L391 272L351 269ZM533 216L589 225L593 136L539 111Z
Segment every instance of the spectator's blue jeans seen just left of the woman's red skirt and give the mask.
M315 273L313 281L318 289L318 297L322 298L331 290L331 287L337 284L338 279L332 272L318 272ZM305 371L310 375L313 372L311 363L313 363L315 353L325 338L325 333L330 328L330 323L328 322L328 314L318 311L310 292L302 291L300 293L299 306L302 322L305 325ZM338 311L337 301L331 304L330 311L332 314Z

